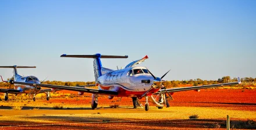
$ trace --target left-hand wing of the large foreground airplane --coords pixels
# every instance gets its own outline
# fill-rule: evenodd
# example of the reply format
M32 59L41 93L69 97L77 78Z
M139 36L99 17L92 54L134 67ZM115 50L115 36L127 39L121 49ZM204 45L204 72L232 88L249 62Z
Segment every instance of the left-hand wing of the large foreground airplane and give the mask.
M55 86L51 84L36 84L36 83L25 83L19 81L13 81L14 84L23 84L28 86L37 86L37 87L47 87L47 88L55 88L60 90L70 90L70 91L78 91L78 92L88 92L91 94L102 94L102 95L118 95L116 91L108 91L108 90L97 90L93 88L83 88L83 87L69 87L69 86Z

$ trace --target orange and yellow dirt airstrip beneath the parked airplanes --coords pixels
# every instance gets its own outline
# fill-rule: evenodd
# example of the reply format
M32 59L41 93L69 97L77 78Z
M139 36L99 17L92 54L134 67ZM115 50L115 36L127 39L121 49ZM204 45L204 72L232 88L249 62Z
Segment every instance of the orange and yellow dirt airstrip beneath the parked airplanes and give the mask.
M234 89L176 92L171 107L158 109L150 103L145 112L144 107L131 109L131 98L109 100L108 96L99 96L97 110L91 110L90 94L59 91L50 101L44 95L35 102L0 101L0 129L208 129L209 124L225 129L227 115L230 120L256 120L255 95L256 90ZM144 105L145 99L140 101ZM199 118L190 120L193 114Z

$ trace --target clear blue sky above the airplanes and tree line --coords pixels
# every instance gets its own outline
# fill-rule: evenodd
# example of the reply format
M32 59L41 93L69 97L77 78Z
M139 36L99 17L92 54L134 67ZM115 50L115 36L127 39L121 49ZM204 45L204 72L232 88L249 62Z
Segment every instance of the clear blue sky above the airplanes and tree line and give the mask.
M129 55L165 80L256 77L256 1L0 1L0 65L21 75L93 81L93 60L61 54ZM5 78L12 69L0 68Z

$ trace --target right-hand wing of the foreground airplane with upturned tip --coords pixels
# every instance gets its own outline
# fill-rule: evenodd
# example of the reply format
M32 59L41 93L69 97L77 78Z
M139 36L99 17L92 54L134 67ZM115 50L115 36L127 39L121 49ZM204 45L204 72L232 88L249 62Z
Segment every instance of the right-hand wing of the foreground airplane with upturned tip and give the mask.
M166 92L188 91L188 90L200 90L202 88L214 88L214 87L222 87L222 86L231 86L231 85L235 85L235 84L241 84L240 78L238 77L237 79L238 79L238 81L233 82L233 83L211 84L211 85L207 85L207 86L195 86L195 87L169 88L166 90L161 89L158 92L156 92L155 94L166 93Z

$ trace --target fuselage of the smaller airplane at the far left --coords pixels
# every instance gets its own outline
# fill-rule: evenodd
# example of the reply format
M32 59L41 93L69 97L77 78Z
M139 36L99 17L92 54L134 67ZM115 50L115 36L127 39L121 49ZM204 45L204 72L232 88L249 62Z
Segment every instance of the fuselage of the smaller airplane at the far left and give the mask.
M38 80L37 77L35 76L20 76L20 75L16 75L15 76L15 81L19 81L19 82L26 82L26 83L39 83L40 81ZM22 84L14 84L15 90L19 90L20 92L24 93L24 94L35 94L38 93L41 88L39 87L33 87L33 86L27 86L27 85L22 85Z

